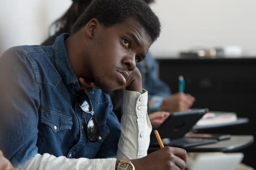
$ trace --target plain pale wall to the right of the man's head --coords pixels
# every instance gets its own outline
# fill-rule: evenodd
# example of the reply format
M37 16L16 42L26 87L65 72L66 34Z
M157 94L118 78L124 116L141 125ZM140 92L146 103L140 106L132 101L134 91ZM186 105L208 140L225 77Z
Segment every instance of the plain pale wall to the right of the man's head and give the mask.
M256 56L255 0L156 0L162 33L150 50L177 56L194 46L239 45Z

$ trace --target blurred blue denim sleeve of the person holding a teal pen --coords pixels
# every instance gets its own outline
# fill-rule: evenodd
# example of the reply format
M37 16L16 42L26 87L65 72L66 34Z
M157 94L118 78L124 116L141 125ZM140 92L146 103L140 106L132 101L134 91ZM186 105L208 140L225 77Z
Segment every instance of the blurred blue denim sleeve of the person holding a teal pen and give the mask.
M163 100L171 95L171 90L159 79L158 64L150 52L137 68L141 73L142 87L148 91L148 112L158 111Z

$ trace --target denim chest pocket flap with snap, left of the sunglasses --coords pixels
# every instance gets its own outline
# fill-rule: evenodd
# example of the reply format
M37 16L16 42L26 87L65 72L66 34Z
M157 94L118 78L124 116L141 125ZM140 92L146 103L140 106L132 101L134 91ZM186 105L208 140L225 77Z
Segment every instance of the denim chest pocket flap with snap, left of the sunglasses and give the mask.
M72 117L68 117L52 110L41 109L40 122L48 125L54 132L72 128Z

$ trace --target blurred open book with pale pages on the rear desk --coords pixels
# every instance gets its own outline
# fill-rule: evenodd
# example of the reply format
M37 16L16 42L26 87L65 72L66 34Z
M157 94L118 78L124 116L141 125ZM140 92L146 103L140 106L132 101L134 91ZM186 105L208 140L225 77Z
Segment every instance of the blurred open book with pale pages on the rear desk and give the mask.
M197 123L196 126L225 124L237 121L234 112L209 111Z

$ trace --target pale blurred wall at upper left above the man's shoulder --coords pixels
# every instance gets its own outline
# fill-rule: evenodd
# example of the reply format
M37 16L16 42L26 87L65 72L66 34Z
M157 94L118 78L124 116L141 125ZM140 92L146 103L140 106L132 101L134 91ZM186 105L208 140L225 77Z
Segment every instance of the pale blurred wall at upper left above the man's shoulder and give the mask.
M71 0L1 0L0 55L16 45L40 44L49 25L71 5Z

